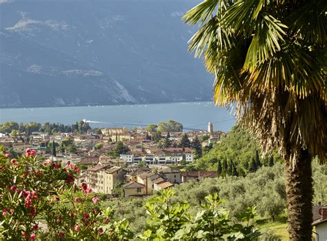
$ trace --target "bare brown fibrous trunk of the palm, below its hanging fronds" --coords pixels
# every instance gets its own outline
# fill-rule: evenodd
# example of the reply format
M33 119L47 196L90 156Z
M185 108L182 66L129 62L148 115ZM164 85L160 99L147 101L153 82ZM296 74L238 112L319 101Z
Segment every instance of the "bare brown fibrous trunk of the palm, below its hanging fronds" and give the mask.
M297 165L285 162L288 233L290 240L311 240L313 179L311 155L301 149Z

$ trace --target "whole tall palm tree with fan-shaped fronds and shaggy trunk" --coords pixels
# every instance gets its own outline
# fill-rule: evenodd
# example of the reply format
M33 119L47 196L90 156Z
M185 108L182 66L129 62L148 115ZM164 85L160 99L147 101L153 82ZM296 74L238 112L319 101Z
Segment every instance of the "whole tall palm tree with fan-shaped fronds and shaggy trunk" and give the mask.
M236 104L264 153L285 160L290 240L310 240L311 160L327 149L327 1L206 0L186 23L190 51L215 75L215 104Z

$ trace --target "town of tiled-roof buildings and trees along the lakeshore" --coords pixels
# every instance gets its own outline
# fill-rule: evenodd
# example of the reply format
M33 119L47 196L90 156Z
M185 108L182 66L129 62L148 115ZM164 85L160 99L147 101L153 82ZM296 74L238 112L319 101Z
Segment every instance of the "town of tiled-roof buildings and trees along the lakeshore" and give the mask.
M212 123L206 131L186 133L172 120L132 130L92 129L86 120L71 126L8 122L1 127L0 144L13 155L33 148L46 160L76 164L81 173L75 182L85 182L108 198L143 197L189 180L217 177L216 171L192 171L191 166L203 148L210 150L226 135L214 132Z

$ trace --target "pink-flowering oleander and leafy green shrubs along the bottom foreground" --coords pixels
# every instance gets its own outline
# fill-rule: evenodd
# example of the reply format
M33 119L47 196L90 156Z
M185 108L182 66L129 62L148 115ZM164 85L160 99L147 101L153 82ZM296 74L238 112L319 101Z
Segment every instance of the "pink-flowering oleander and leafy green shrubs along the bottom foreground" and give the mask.
M116 220L112 208L101 208L86 183L74 184L79 168L41 161L34 150L11 159L0 150L1 240L255 240L260 233L249 220L254 209L235 224L219 207L217 193L206 197L197 215L186 201L173 202L168 189L145 205L143 233L133 233L127 220Z

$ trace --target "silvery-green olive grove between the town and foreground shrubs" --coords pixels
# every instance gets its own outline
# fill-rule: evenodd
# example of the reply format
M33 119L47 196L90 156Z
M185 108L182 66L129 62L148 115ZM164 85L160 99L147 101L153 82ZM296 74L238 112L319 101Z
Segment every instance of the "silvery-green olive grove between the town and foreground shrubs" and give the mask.
M315 178L314 204L327 203L327 168L313 162L313 177ZM187 200L190 204L192 214L201 209L208 194L218 193L223 199L224 206L230 210L230 217L237 217L248 207L255 206L257 212L256 225L273 224L282 225L281 230L272 228L268 233L264 231L264 237L279 240L279 231L286 234L286 193L284 186L284 166L276 163L274 166L262 166L255 173L249 173L246 177L219 177L208 178L201 182L187 182L175 186L176 195L172 197L173 202ZM115 200L105 202L105 206L112 206L115 210L115 218L126 218L130 222L133 231L143 229L147 214L143 206L147 198ZM264 227L264 225L262 225ZM272 234L275 233L275 234ZM279 235L278 235L279 234Z

